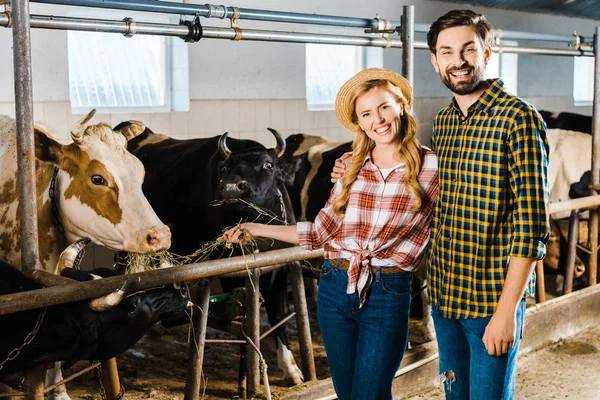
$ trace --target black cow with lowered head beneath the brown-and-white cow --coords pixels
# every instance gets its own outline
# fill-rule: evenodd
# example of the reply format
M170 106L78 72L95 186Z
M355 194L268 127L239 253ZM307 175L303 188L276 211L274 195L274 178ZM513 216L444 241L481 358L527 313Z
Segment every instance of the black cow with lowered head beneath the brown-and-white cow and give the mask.
M96 277L114 276L108 269L92 271ZM65 276L79 281L94 279L90 273L68 269ZM0 294L41 289L42 284L12 265L0 260ZM106 360L133 346L155 323L179 317L188 305L185 286L173 285L131 294L108 311L90 309L88 301L62 304L45 309L0 315L0 363L23 345L41 323L31 343L23 346L18 357L7 361L3 374L64 361L69 366L79 360Z

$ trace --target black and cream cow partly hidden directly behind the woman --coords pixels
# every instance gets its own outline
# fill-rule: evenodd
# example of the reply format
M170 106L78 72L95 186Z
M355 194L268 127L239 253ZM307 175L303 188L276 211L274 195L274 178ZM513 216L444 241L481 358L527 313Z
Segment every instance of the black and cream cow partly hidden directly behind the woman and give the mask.
M281 159L296 218L299 221L314 221L333 188L331 171L335 160L352 151L352 142L341 143L321 136L296 133L288 136L286 143ZM421 266L413 283L413 295L420 292L421 296L411 303L411 316L422 318L424 327L422 332L411 331L410 340L413 343L435 338L427 293L423 290L425 273L426 268Z

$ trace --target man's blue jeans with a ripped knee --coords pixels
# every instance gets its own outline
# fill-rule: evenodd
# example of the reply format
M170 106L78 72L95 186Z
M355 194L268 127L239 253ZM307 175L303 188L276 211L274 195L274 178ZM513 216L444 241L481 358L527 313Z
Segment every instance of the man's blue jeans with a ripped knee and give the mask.
M431 315L446 400L514 399L517 354L525 324L525 300L517 307L515 343L501 356L490 356L482 342L492 317L444 318L435 304L431 305Z

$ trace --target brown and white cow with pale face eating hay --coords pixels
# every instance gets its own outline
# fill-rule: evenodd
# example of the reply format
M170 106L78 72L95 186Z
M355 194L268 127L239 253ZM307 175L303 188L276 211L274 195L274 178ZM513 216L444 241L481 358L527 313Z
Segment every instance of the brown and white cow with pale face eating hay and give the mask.
M127 137L145 127L137 123L127 130L113 131L104 123L88 126L93 115L94 111L80 121L71 132L73 143L68 145L60 144L40 127L35 129L37 267L49 272L57 273L61 252L82 239L113 250L142 253L167 249L171 244L169 228L142 193L142 163L126 149ZM13 118L0 116L0 258L20 267L16 173L16 123ZM54 198L50 197L51 187ZM64 237L58 229L60 224ZM60 369L56 370L47 383L62 380ZM64 386L50 398L69 399Z

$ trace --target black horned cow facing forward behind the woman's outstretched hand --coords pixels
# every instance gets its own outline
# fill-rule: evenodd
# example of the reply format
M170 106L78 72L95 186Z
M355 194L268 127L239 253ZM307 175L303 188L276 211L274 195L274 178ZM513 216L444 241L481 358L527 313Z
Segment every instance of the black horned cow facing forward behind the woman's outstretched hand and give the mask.
M241 221L295 223L279 163L285 139L275 130L270 131L277 140L275 149L252 140L231 139L227 133L177 140L155 134L149 128L129 141L128 150L146 169L142 190L157 215L171 228L170 251L191 254L202 242L214 240L224 228ZM271 211L277 219L262 215L240 200ZM215 206L215 201L222 204ZM259 241L260 250L274 249L274 245L284 246L270 240ZM211 258L221 255L215 253ZM229 250L225 255L229 255ZM260 277L260 292L271 325L285 317L286 277L286 268ZM242 279L220 281L225 292L244 285ZM275 343L284 378L291 384L301 383L302 373L289 350L285 324L275 330Z

